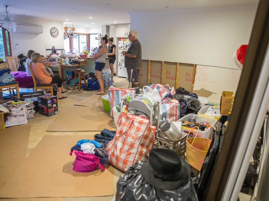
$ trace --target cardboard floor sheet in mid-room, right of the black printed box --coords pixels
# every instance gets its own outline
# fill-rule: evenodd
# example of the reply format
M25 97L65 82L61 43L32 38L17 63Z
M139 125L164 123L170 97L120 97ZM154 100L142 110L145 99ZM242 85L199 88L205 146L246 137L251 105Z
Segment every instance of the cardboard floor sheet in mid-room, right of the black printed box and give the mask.
M104 129L112 129L110 112L100 111L99 107L73 106L62 108L46 131L102 131Z

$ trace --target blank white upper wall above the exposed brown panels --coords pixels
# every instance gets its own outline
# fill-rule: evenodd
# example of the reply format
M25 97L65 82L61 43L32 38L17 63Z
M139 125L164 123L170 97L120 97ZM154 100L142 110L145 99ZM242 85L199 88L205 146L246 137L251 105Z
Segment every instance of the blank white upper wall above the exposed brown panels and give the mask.
M131 13L142 59L238 69L232 54L248 44L257 5L226 10Z

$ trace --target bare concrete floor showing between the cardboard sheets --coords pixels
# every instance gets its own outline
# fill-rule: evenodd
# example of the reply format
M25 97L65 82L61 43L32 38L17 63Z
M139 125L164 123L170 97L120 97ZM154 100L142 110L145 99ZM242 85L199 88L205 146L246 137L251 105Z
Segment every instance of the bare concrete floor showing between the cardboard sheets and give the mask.
M113 86L117 88L128 88L129 82L125 78L114 77L114 84ZM70 85L64 85L65 87L70 87ZM105 87L105 91L107 91L109 87ZM61 112L63 107L71 107L73 103L84 100L91 95L94 95L96 91L78 91L78 89L67 89L68 92L65 93L67 98L58 101L58 110ZM98 96L98 95L96 95ZM99 95L100 96L100 95ZM27 156L31 153L31 151L37 146L39 141L42 139L44 135L95 135L97 131L78 131L78 132L46 132L48 125L51 124L52 121L57 117L57 115L46 117L43 115L39 115L38 112L34 114L34 118L28 121L27 124L31 125L28 148L27 148ZM71 118L72 114L69 117ZM112 130L115 130L112 129ZM104 196L104 197L73 197L73 198L63 198L66 201L110 201L115 197L116 193L116 183L122 175L123 172L116 169L114 171L114 194L112 196ZM247 194L239 194L240 201L249 201L251 199L250 195Z

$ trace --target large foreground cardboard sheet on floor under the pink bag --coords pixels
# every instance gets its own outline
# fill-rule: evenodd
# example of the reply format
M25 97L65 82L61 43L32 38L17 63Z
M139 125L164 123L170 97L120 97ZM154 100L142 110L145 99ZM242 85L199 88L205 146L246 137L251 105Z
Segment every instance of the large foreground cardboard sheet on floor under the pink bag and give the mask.
M91 197L113 195L114 168L73 171L71 147L88 135L45 135L0 190L1 198Z

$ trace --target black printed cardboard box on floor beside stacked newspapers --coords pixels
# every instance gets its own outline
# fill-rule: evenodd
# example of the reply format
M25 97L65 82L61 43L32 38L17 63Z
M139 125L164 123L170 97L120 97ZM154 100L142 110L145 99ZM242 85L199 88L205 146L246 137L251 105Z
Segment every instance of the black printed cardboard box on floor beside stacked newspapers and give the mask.
M57 96L38 96L37 101L39 114L44 116L52 116L58 114Z

